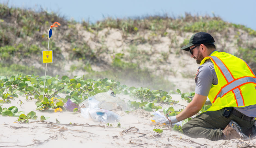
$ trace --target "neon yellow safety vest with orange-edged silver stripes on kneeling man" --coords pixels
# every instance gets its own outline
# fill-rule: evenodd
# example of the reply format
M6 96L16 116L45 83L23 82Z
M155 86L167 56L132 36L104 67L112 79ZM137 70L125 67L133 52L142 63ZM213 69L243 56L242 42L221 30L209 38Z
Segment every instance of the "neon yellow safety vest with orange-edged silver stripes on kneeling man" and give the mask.
M256 104L256 77L245 61L229 53L215 51L200 65L208 59L214 64L218 84L212 84L208 95L212 106L207 111Z

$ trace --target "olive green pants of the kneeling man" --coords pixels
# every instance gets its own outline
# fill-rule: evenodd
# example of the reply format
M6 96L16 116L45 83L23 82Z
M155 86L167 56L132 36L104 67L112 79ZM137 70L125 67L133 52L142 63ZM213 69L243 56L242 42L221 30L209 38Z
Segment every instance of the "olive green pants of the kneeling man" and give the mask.
M207 138L215 141L222 139L223 130L230 120L240 125L242 132L246 133L253 125L253 121L241 119L233 114L228 118L223 116L224 109L207 111L196 116L182 126L183 133L192 138Z

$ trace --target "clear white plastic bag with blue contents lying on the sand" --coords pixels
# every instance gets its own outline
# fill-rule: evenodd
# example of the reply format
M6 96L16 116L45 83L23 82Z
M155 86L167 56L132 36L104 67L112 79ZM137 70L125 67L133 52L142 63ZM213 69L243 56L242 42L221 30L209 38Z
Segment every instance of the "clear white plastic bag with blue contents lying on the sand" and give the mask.
M98 108L99 101L89 98L89 108L81 108L81 115L96 122L116 122L120 116L112 111Z

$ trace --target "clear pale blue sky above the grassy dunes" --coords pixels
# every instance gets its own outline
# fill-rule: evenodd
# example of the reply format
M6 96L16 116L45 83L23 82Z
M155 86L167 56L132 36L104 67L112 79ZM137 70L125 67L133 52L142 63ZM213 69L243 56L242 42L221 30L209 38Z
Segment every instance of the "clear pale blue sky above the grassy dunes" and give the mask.
M0 3L6 4L7 0L0 0ZM42 7L65 16L68 20L89 19L92 23L104 17L128 18L163 14L179 17L184 16L185 12L212 17L214 13L224 21L256 30L256 0L9 0L8 5L35 10Z

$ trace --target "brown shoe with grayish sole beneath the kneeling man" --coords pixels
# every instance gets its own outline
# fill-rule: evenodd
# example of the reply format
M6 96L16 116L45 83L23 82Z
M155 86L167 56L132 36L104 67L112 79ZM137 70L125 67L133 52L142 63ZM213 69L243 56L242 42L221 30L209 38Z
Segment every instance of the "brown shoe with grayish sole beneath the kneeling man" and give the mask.
M246 136L240 126L233 120L229 122L229 124L225 127L223 132L223 139L224 140L230 140L230 139L248 139L249 137Z

